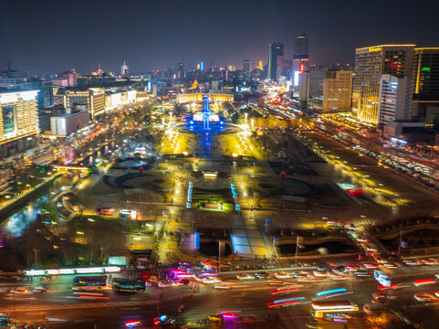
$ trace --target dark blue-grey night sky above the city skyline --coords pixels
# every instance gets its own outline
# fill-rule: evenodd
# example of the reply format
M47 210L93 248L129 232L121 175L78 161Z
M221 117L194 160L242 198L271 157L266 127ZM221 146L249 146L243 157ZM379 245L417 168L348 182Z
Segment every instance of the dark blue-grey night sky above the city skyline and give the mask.
M267 63L268 44L292 57L307 33L314 64L353 62L354 49L390 43L439 47L434 0L0 0L0 69L87 74L186 69L204 59L236 68Z

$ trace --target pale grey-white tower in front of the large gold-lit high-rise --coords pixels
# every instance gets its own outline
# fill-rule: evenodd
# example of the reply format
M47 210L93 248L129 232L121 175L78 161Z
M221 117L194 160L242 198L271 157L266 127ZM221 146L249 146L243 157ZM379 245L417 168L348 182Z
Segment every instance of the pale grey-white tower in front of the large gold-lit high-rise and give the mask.
M411 77L383 74L380 81L379 123L412 119L413 83Z

